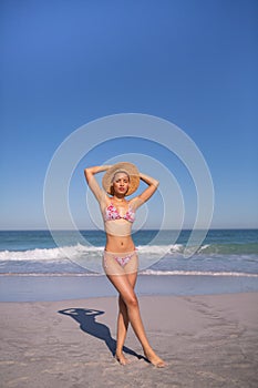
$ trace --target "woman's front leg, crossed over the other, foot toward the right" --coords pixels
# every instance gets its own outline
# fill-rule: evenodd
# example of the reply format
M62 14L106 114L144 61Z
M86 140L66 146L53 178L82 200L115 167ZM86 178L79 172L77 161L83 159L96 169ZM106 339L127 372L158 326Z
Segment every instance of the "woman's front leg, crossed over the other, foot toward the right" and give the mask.
M164 367L165 363L154 353L147 340L140 315L138 300L134 293L134 288L128 280L128 277L126 275L107 275L107 277L117 289L127 307L128 320L134 329L135 335L142 344L145 356L153 365L157 367Z

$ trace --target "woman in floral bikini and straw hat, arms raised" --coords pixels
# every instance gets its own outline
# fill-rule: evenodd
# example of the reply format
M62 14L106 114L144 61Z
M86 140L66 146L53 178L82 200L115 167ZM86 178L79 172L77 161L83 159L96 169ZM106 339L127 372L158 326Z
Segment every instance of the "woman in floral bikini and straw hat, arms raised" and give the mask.
M94 175L104 171L106 173L102 180L103 191ZM135 212L155 193L158 181L138 173L136 166L127 162L89 167L84 170L84 174L90 188L100 203L105 224L106 245L103 268L120 294L115 357L121 365L128 363L128 359L123 355L123 346L128 323L131 323L145 357L154 366L164 367L165 363L152 349L142 323L138 300L134 292L138 258L131 236ZM138 196L126 201L125 197L137 190L140 180L145 182L148 187Z

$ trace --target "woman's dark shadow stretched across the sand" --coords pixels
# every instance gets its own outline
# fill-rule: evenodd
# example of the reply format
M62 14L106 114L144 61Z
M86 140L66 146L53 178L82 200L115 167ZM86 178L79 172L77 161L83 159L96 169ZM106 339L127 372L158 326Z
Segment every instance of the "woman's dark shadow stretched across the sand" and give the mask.
M84 333L90 334L93 337L102 339L113 356L115 356L116 340L112 338L110 328L95 320L99 315L105 314L105 312L95 310L92 308L66 308L59 310L59 314L68 315L75 319L80 324L80 329ZM137 355L134 350L123 347L123 351L132 356L137 357L138 359L145 358L141 355Z

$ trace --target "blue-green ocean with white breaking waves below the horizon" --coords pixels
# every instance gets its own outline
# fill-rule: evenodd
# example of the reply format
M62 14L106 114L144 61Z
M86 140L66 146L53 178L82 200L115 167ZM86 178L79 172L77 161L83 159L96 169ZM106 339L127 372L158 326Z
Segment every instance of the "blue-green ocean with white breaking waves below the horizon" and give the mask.
M103 274L105 235L102 231L80 231L80 238L69 231L56 233L59 246L49 231L1 231L0 275ZM134 233L141 263L140 273L146 276L258 278L258 229L210 229L196 253L185 257L189 234L190 231L182 231L179 234L175 231Z

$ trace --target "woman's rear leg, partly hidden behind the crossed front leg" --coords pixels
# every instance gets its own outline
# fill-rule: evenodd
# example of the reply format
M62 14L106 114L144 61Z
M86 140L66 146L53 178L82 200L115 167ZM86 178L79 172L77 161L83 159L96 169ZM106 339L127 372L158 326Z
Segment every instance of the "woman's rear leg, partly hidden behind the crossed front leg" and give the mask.
M127 274L123 275L126 276L128 279L128 283L131 286L134 288L137 279L137 273L134 274ZM125 343L126 334L127 334L127 328L128 328L128 313L127 313L127 307L126 304L124 303L122 295L120 294L118 297L118 317L117 317L117 334L116 334L116 358L122 365L128 364L128 359L124 357L123 355L123 346Z

